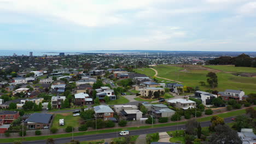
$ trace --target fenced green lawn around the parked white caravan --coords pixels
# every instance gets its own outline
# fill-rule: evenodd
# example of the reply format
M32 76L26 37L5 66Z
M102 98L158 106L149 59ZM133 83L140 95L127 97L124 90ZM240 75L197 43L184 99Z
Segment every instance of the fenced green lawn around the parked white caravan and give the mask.
M59 120L64 119L65 125L60 125ZM72 112L69 113L60 113L56 114L54 116L54 121L53 121L53 127L56 128L66 128L67 126L73 126L73 127L78 127L79 126L79 116L73 116Z

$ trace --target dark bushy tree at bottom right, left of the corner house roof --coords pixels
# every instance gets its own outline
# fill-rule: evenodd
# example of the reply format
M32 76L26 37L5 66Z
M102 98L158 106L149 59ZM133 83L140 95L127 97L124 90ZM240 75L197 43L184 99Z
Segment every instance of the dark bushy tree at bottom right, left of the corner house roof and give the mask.
M240 137L237 135L235 130L232 130L228 125L216 125L214 129L216 133L211 135L210 143L212 144L241 144L242 141Z

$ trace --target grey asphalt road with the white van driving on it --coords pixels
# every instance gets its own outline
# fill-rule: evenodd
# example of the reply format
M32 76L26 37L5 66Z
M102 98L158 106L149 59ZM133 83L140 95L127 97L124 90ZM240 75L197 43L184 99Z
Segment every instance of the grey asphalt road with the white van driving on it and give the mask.
M225 123L232 122L231 118L224 118ZM201 122L201 127L209 127L211 125L210 121ZM160 127L160 128L150 128L150 129L141 129L141 130L131 130L130 135L142 135L142 134L151 134L157 132L165 132L165 131L174 131L174 130L183 130L185 129L185 125L173 125L168 127ZM109 138L120 137L117 133L104 133L104 134L95 134L95 135L82 135L82 136L74 136L75 140L79 141L91 141L91 140L103 140ZM63 137L59 139L55 139L56 144L67 143L72 140L72 137ZM0 139L1 141L1 139ZM45 140L37 140L37 141L24 141L22 144L45 144ZM11 143L2 143L2 144L11 144Z

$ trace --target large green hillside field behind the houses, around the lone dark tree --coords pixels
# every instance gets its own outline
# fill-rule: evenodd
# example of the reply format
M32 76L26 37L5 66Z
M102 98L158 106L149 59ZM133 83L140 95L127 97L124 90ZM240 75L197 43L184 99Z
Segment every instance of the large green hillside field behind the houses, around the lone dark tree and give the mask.
M223 65L222 65L223 66ZM247 68L247 67L239 67L240 69L244 68L244 70L256 68ZM200 90L205 91L207 89L212 89L208 83L206 86L200 86L200 81L207 80L208 70L187 70L181 71L183 68L170 66L170 65L158 65L154 67L154 69L158 70L158 76L164 77L171 80L177 80L183 82L184 86L188 87L196 87L199 86ZM135 69L137 73L146 74L148 76L152 76L154 71L152 69ZM235 76L229 73L219 72L218 76L218 87L214 88L217 91L225 91L225 89L242 89L246 94L256 93L256 77L241 77Z

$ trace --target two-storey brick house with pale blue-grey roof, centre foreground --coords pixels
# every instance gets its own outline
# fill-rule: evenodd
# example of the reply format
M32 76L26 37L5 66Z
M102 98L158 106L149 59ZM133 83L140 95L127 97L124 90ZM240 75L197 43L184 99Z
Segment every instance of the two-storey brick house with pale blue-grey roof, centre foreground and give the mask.
M104 121L114 117L114 111L106 105L94 106L95 117L102 118Z

